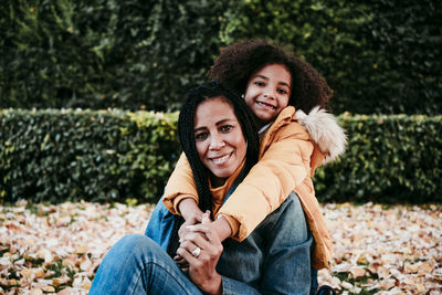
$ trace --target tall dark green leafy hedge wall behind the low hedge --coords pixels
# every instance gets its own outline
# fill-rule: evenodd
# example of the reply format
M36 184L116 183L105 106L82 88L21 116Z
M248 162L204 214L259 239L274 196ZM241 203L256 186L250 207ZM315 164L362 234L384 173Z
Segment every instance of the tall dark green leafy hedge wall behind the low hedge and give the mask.
M291 44L336 114L442 114L440 0L0 1L0 108L177 109L220 48Z

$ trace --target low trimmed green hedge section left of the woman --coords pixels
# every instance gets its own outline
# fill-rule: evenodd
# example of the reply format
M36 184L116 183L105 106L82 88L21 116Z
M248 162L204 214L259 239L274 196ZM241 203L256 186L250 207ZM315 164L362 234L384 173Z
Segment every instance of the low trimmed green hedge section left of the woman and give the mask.
M177 114L2 110L0 197L156 200L177 159Z

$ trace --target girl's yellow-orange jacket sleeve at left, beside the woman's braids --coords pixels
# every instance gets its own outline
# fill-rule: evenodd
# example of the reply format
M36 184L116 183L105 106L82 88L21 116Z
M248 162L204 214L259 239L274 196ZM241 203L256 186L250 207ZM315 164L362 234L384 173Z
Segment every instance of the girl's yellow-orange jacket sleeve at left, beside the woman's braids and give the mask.
M190 164L182 152L177 166L167 181L162 203L173 214L179 214L178 203L186 198L192 198L198 203L197 187Z

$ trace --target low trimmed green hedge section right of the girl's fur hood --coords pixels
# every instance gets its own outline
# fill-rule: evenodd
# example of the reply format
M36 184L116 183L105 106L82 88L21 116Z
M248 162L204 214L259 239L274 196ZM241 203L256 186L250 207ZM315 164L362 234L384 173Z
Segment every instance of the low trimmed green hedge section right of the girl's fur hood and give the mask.
M323 201L442 202L442 116L339 116L347 151L315 175Z

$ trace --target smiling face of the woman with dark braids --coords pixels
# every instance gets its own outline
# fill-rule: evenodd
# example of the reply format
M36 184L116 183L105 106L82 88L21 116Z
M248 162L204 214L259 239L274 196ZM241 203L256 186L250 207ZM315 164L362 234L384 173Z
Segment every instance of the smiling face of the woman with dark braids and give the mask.
M198 105L194 139L202 164L214 176L213 186L224 183L244 160L246 144L241 125L233 107L222 96Z

